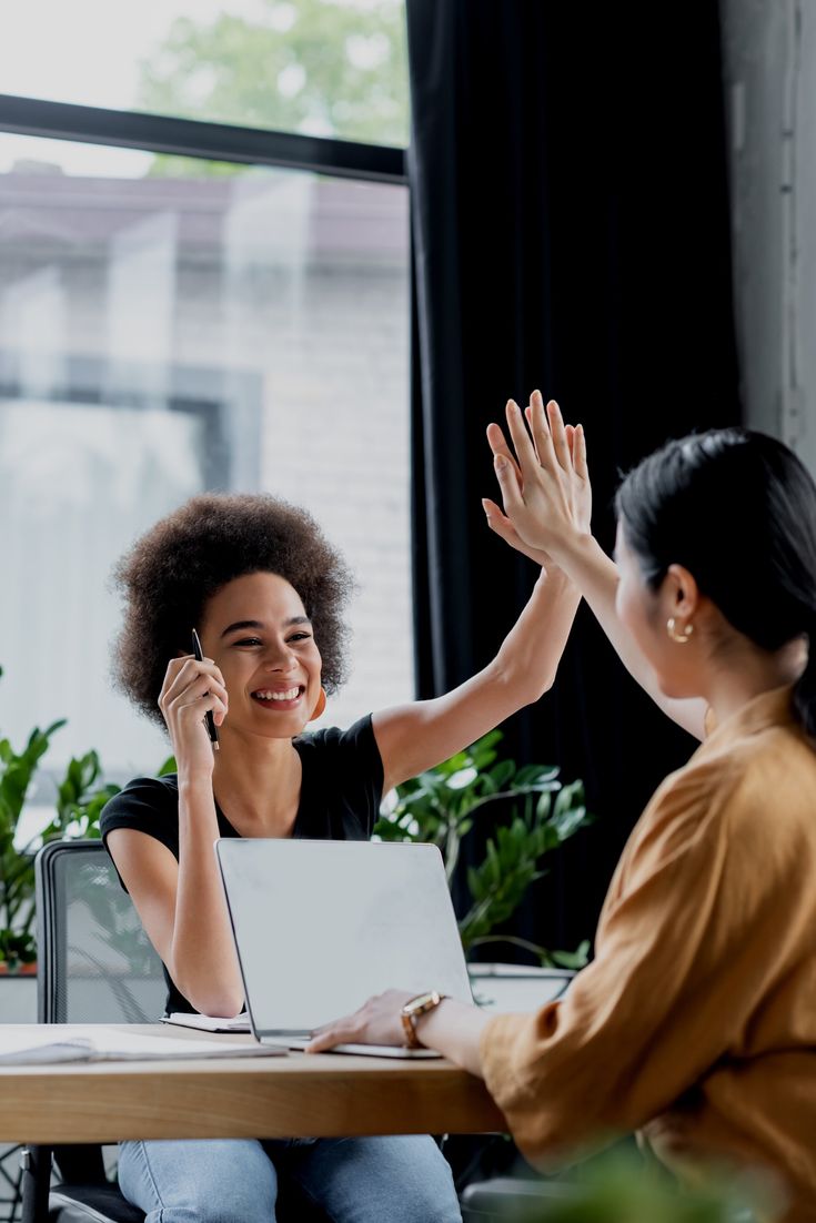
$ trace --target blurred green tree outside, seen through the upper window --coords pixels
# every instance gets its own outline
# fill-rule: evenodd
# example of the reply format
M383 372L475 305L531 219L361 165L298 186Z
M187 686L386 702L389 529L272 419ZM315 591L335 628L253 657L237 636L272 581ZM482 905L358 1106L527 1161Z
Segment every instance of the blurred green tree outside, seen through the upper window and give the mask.
M404 4L259 0L252 18L180 17L142 64L138 105L153 114L405 146ZM208 174L235 171L204 166ZM190 175L188 159L157 157L150 172L180 170Z

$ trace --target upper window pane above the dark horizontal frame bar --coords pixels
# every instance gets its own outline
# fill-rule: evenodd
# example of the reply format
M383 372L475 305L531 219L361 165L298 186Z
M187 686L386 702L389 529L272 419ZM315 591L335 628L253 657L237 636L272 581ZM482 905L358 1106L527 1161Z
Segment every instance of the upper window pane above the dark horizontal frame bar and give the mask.
M404 146L402 0L26 0L4 93Z

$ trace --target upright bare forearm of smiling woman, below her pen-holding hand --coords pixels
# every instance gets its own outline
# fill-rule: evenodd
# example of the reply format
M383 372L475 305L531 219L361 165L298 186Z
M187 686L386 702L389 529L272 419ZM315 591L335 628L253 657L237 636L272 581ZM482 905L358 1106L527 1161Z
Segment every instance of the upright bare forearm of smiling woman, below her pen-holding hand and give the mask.
M198 1010L234 1015L243 988L213 843L219 837L212 783L179 784L179 888L172 980Z

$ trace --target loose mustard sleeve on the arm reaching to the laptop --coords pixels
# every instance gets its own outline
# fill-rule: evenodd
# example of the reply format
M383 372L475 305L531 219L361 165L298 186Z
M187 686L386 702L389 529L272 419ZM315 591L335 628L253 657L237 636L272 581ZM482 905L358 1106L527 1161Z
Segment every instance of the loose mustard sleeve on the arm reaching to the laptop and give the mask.
M750 1011L773 923L747 925L744 863L729 854L733 797L705 766L664 784L624 855L597 958L562 1002L486 1026L487 1086L540 1167L663 1112Z

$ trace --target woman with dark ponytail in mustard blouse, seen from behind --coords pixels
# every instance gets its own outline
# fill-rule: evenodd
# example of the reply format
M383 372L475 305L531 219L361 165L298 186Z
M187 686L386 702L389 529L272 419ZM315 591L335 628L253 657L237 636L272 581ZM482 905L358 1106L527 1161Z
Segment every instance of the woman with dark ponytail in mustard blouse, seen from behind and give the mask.
M816 486L744 429L670 442L617 498L613 563L576 519L584 435L541 396L489 440L493 528L543 553L624 663L700 739L637 823L596 958L536 1015L451 999L416 1037L482 1076L549 1169L639 1130L688 1179L765 1172L784 1223L816 1219ZM515 453L514 453L515 451ZM428 982L428 988L433 982ZM321 1033L399 1043L389 991Z

